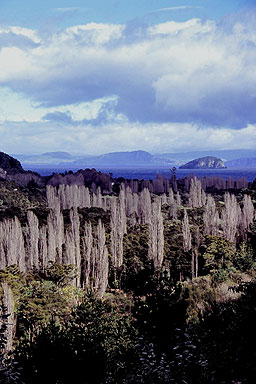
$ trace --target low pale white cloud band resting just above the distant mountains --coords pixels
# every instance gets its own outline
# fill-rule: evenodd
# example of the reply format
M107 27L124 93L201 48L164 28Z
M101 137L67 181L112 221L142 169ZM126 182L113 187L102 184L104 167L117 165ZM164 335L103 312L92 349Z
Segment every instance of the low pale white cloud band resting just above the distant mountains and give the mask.
M12 139L10 139L10 130ZM255 149L256 125L241 130L200 129L191 124L122 122L94 126L81 123L0 123L1 148L9 153L64 150L99 155L143 149L151 153L216 149ZM202 146L203 143L203 146Z

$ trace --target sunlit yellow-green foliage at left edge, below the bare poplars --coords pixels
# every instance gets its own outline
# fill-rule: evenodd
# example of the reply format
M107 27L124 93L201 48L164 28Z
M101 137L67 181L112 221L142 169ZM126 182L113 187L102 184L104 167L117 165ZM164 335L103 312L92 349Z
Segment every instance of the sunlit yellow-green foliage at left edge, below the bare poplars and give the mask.
M52 319L68 316L82 294L69 285L75 273L72 265L50 263L44 273L21 273L17 266L0 271L0 281L12 288L17 316L17 337L33 338Z

